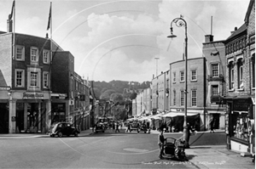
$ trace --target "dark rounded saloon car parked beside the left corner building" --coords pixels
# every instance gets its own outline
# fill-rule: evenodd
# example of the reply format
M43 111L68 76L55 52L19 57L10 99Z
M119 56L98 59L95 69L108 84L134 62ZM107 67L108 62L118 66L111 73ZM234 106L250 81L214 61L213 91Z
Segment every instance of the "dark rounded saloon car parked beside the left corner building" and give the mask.
M79 136L79 130L69 122L58 122L56 123L52 129L49 131L50 137L62 137L63 135L70 136L73 135L75 137Z

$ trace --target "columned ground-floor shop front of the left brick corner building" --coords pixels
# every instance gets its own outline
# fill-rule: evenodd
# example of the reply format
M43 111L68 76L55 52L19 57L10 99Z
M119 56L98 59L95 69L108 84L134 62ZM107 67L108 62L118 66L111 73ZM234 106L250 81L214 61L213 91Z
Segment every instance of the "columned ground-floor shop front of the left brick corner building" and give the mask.
M9 133L47 132L50 126L48 92L13 92L9 99Z

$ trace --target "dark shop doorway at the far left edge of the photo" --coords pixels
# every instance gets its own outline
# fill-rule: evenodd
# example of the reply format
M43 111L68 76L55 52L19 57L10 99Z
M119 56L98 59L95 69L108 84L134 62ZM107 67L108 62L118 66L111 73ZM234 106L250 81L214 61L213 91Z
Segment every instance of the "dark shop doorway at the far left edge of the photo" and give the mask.
M9 106L0 104L0 133L9 133Z

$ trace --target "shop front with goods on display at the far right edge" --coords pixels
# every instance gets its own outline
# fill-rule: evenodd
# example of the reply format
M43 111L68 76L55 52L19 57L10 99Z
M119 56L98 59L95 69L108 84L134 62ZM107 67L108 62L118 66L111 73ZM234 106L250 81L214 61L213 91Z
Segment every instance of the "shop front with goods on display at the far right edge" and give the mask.
M227 148L238 152L250 152L253 132L253 99L236 97L225 99L227 113L225 115L225 132L227 134Z

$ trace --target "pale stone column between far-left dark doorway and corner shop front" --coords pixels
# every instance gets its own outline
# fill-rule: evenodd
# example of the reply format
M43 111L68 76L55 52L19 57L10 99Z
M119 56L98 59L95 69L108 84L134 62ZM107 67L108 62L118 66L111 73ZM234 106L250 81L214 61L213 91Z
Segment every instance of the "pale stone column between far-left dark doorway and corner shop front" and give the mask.
M9 133L15 133L16 121L12 121L12 117L16 116L16 100L9 100Z

